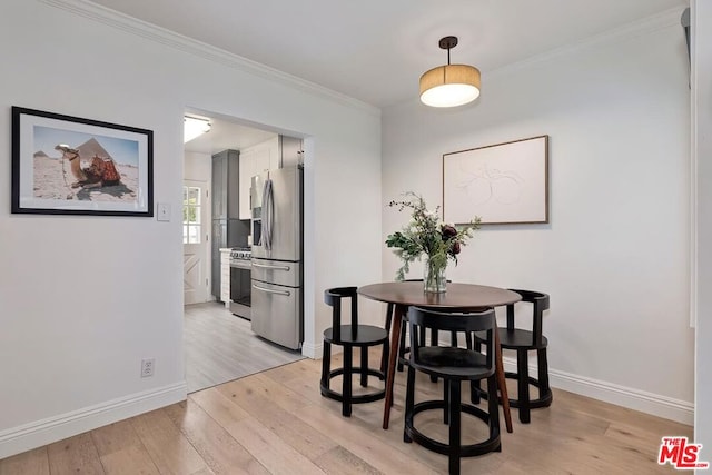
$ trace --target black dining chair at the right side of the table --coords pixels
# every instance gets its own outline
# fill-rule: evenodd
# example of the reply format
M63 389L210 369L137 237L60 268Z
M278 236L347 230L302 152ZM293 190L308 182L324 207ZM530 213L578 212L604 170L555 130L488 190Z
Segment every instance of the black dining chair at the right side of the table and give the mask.
M542 333L543 314L550 307L548 295L533 290L510 289L522 296L522 300L507 305L507 326L500 328L500 345L503 349L516 352L516 372L506 372L505 376L517 380L517 397L510 398L510 406L520 410L520 422L528 424L532 408L548 407L553 400L548 385L548 363L546 347L548 340ZM515 310L531 308L532 326L518 328ZM528 352L536 352L537 377L530 376ZM538 389L538 398L530 396L530 385Z

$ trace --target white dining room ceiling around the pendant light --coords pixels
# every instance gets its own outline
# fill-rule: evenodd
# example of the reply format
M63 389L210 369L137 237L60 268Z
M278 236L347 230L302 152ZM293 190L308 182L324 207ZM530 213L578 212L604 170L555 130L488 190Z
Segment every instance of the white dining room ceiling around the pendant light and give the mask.
M93 0L130 17L384 108L417 97L443 65L503 66L686 0Z

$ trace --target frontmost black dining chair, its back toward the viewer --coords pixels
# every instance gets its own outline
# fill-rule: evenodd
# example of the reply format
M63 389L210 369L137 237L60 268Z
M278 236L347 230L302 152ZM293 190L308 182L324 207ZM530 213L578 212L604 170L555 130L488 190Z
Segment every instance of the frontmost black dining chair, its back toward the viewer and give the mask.
M493 451L501 451L500 413L497 404L497 382L495 375L494 331L496 328L495 313L487 309L479 313L444 313L425 308L412 307L408 310L411 333L411 352L407 359L408 375L406 384L405 442L415 442L423 447L448 456L451 474L459 474L461 457L483 455ZM439 346L438 342L427 345L423 337L425 329L437 329L451 334L464 334L466 340L472 340L475 333L482 333L484 338L476 350L447 345ZM415 404L416 372L431 377L443 378L445 394L443 399L424 400ZM487 382L487 410L461 400L462 383ZM427 410L443 410L444 422L448 424L448 442L444 444L427 436L415 426L415 416ZM484 422L488 427L488 435L484 441L475 444L462 444L462 413L469 414ZM471 420L473 418L467 418Z

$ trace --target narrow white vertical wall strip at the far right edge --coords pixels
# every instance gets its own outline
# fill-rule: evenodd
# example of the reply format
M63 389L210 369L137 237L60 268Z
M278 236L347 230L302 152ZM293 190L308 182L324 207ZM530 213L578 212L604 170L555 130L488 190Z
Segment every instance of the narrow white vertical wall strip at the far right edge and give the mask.
M712 461L712 3L692 2L693 112L698 158L698 321L695 355L694 441L705 448L701 459Z

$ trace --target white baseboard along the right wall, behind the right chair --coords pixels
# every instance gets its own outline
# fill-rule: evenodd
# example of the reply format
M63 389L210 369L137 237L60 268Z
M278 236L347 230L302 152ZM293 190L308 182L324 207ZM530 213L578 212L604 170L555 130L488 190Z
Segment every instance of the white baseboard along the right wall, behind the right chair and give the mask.
M507 372L516 372L516 359L505 357L504 368ZM535 365L530 365L530 375L536 375ZM675 420L681 424L692 425L694 422L694 404L688 403L686 400L673 399L659 394L646 393L551 368L548 369L548 382L552 387L558 389Z

